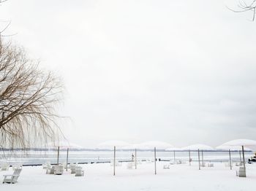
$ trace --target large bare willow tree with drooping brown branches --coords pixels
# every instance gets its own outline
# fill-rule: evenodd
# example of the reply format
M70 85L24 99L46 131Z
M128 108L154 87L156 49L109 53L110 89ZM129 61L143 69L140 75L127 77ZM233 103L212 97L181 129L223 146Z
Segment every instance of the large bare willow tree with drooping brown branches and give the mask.
M0 44L0 148L26 148L58 139L56 106L63 87L26 52Z

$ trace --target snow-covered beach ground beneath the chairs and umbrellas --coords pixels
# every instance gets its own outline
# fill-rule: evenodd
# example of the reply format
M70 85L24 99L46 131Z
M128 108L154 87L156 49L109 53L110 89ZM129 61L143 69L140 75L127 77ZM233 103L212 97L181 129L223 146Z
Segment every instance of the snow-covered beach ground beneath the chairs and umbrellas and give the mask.
M154 174L154 163L142 163L138 169L127 169L127 163L113 167L109 163L82 165L85 176L75 177L70 171L63 175L45 174L42 166L23 167L17 184L0 184L0 190L20 191L50 191L50 190L255 190L256 164L246 164L246 178L236 176L238 167L225 167L224 163L214 163L214 167L204 167L198 170L197 163L170 165L170 169L163 169L164 162L157 162L157 175ZM0 171L12 174L12 169Z

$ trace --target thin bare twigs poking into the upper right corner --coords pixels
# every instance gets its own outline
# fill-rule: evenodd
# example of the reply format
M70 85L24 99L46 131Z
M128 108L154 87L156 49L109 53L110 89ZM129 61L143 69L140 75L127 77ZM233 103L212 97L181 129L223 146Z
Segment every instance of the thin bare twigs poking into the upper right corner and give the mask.
M227 7L230 9L229 7ZM256 0L248 1L238 1L238 9L230 9L233 12L252 12L252 21L255 20L255 13L256 13Z

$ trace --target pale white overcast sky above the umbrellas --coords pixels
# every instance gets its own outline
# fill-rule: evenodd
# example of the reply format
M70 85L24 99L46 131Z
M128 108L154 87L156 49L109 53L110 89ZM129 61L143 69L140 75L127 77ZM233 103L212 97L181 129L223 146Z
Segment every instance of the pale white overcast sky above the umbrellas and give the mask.
M70 141L217 146L256 135L256 23L236 4L9 0L0 17L64 79Z

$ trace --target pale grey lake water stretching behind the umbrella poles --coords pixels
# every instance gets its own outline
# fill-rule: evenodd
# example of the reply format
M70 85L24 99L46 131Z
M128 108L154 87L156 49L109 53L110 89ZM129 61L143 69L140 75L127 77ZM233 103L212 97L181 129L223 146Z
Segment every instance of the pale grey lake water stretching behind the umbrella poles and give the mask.
M119 161L131 160L132 151L117 151L116 159ZM248 160L254 154L252 152L245 153L245 159ZM200 152L200 157L201 152ZM231 152L231 157L233 161L239 161L239 152ZM67 158L67 152L61 151L59 155L59 163L64 163ZM139 151L137 152L138 160L154 160L154 152L151 151ZM161 160L174 160L174 152L157 152L157 158ZM192 161L197 161L198 153L191 152ZM224 162L229 160L228 152L203 152L203 159L214 161L214 162ZM97 162L109 162L113 160L113 151L81 151L69 152L69 163L97 163ZM176 152L176 160L189 160L188 152ZM10 165L15 163L22 163L23 165L33 165L42 164L46 162L57 163L57 152L53 151L41 151L41 152L15 152L0 153L0 162L7 161Z

